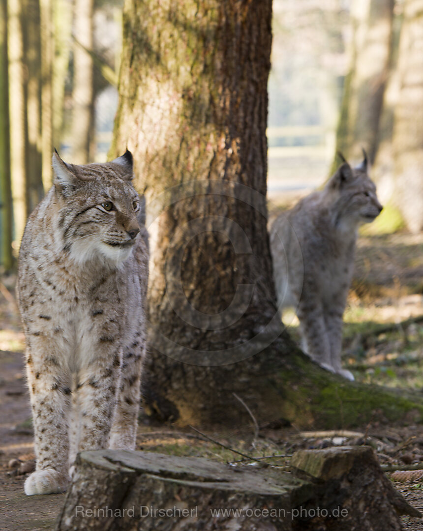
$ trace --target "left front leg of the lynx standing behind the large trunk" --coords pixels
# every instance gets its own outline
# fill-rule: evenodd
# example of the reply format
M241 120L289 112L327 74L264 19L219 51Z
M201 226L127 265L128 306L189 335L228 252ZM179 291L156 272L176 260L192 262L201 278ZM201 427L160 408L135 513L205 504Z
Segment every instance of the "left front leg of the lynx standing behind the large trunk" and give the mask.
M305 352L319 365L334 372L331 361L331 345L321 306L301 303L298 307L300 331Z

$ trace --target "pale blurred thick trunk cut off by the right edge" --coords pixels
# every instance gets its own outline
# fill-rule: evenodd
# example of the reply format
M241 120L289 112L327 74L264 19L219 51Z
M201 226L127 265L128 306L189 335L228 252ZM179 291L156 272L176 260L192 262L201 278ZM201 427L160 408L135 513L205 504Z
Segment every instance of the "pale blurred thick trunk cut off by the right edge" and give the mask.
M423 0L406 0L399 52L400 95L394 115L393 198L410 230L423 229Z

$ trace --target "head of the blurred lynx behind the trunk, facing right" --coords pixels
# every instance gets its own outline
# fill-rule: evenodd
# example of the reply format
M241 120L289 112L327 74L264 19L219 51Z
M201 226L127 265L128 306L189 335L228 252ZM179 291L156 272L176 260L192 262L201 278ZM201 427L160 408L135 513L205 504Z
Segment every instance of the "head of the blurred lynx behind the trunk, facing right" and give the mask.
M368 176L366 152L363 161L352 168L344 160L325 186L330 201L335 205L336 222L362 225L373 221L382 211L376 195L376 186Z

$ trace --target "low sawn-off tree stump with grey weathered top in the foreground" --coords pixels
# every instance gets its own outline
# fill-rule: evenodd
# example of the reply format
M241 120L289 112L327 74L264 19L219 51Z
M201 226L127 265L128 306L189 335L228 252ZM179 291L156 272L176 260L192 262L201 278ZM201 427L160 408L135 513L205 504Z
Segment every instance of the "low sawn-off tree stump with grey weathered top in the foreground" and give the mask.
M368 447L303 450L293 473L153 452L80 453L56 531L401 529L420 516Z

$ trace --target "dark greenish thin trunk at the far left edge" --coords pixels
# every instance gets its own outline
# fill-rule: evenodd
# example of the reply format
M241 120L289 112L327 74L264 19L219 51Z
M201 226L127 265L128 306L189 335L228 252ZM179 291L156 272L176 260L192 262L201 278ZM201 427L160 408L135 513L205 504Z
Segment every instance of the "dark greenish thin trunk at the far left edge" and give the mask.
M9 59L7 54L7 1L0 4L0 201L1 262L6 271L13 265L12 193L10 184Z

